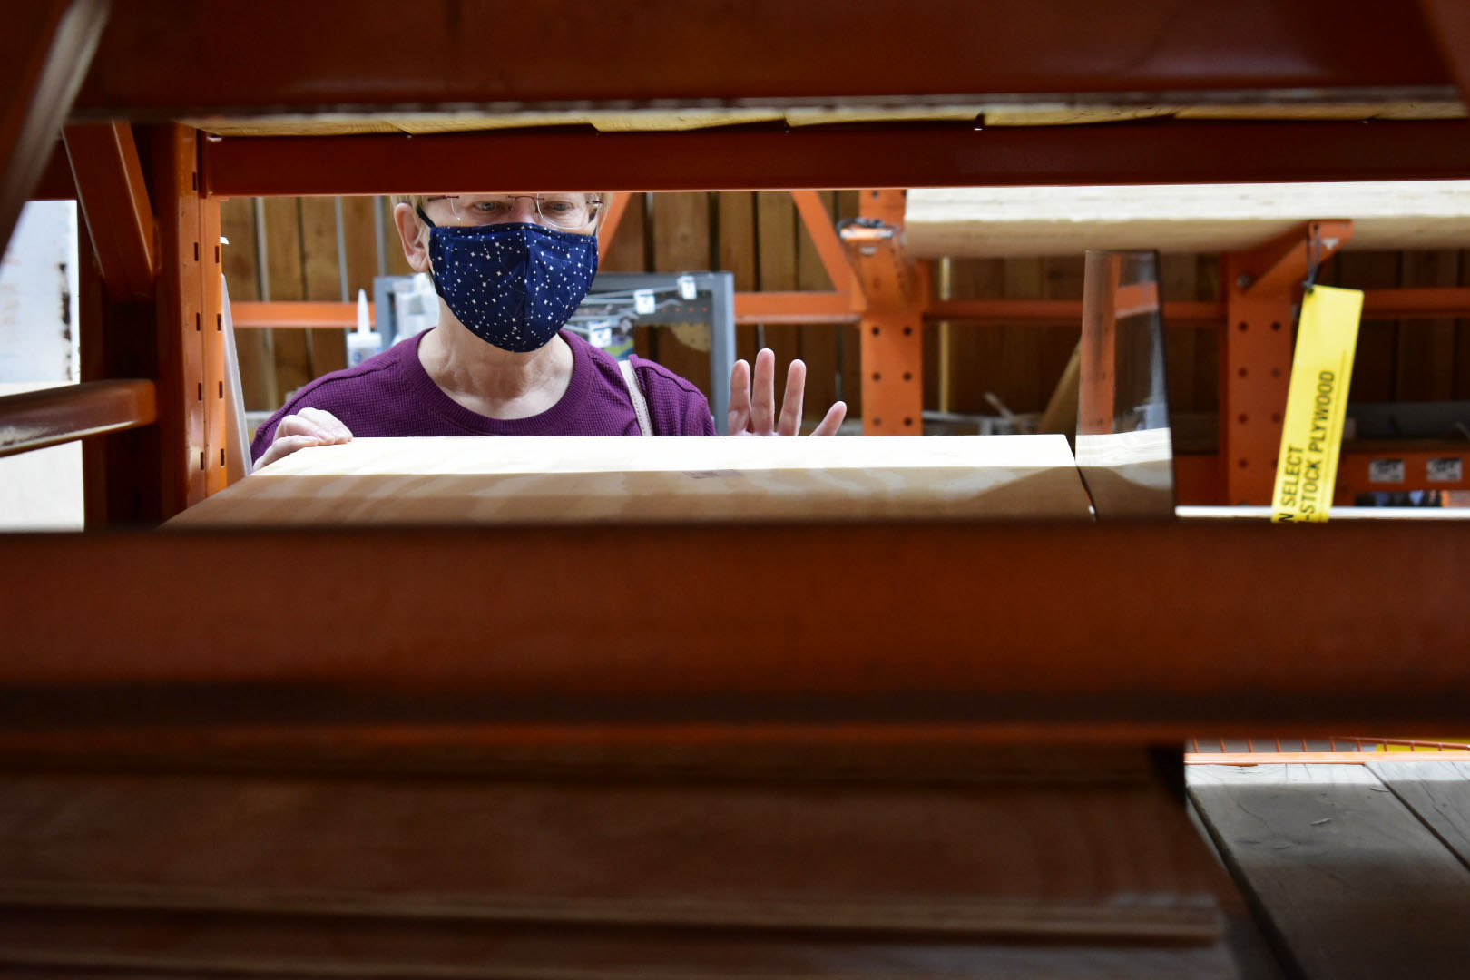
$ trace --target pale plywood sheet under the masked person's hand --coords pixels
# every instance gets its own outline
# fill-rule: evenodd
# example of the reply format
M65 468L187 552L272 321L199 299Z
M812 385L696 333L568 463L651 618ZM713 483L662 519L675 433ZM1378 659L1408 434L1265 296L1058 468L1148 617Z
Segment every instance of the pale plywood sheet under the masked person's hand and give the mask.
M175 527L1089 517L1050 436L353 439L287 457Z

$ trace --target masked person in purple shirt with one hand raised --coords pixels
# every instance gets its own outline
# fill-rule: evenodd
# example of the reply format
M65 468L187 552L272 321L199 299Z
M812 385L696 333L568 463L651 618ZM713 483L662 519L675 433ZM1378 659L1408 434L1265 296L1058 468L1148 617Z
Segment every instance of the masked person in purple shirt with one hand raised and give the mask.
M409 264L434 276L434 329L303 386L256 432L256 469L359 436L714 435L709 400L650 360L563 331L597 275L600 194L400 197ZM795 435L806 366L778 413L775 354L731 372L731 435ZM833 435L833 404L813 435Z

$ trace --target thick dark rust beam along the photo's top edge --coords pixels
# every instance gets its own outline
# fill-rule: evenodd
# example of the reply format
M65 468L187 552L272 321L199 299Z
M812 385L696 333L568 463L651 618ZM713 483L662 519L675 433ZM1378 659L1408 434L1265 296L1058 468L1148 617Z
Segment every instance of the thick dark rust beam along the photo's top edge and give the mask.
M1105 13L1091 0L1033 0L1005 16L982 16L964 0L747 0L707 4L698 16L681 0L422 0L415 43L404 44L394 4L197 3L181 15L175 0L132 0L109 25L76 112L165 119L1232 90L1299 98L1454 84L1417 10L1395 9L1391 28L1383 16L1376 0L1114 0ZM567 25L597 54L576 43L497 44L485 56L485 38L542 37L548 24ZM375 51L392 57L368 56Z

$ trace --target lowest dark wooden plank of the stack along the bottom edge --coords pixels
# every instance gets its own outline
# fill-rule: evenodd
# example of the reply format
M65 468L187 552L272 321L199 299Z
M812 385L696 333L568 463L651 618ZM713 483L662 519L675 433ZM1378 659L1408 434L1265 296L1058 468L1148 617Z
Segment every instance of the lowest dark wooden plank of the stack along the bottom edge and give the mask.
M290 915L7 909L0 976L440 977L444 980L1222 980L1217 946L945 942L867 934L516 926ZM44 974L37 968L49 968ZM54 974L50 970L62 970Z

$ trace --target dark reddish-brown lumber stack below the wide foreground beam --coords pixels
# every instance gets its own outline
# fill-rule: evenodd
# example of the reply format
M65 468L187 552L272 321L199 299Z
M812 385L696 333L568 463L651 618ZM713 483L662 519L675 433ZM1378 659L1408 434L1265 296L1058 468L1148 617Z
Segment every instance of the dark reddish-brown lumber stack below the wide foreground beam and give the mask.
M1139 751L759 746L0 779L0 964L206 976L1230 977Z

